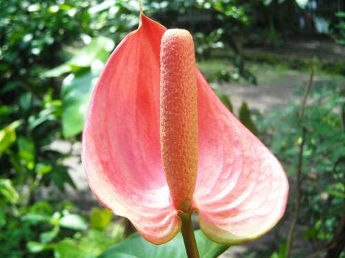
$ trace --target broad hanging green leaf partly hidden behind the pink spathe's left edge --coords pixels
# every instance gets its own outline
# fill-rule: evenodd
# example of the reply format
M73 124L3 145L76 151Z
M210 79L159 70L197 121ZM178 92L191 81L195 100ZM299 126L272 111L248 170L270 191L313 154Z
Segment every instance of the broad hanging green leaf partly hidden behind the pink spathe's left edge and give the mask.
M70 74L63 80L62 132L65 138L76 136L83 130L88 104L98 76L99 74L92 72L81 75Z

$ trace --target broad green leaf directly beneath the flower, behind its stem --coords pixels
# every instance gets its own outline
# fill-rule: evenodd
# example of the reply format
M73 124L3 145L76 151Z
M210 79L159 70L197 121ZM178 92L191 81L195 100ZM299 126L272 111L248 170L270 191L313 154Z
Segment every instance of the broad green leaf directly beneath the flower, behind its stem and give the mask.
M228 246L216 244L210 241L201 230L195 231L199 255L203 258L214 258L221 255L228 249ZM135 248L133 248L135 246ZM136 258L185 258L186 250L182 235L178 234L174 239L166 244L156 246L150 244L139 234L133 234L119 244L112 246L103 252L98 258L117 258L117 257L136 257Z

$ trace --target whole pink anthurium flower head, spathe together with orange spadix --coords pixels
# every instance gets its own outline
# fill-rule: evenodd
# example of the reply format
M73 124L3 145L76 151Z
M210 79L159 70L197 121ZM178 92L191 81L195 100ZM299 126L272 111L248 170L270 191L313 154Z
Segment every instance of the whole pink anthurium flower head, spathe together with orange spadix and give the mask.
M154 244L179 232L179 212L199 213L213 241L239 244L286 207L282 166L210 89L190 34L143 14L99 78L82 160L99 201Z

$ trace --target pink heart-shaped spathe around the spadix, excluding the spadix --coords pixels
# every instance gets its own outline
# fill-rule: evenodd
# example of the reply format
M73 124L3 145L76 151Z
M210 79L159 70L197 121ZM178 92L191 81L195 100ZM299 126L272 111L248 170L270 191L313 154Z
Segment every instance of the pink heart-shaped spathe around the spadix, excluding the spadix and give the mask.
M159 52L165 31L143 15L139 29L112 53L92 96L82 150L99 201L128 217L154 244L169 241L181 226L159 142ZM224 244L255 239L284 213L288 182L282 166L221 104L198 70L197 113L192 205L201 230Z

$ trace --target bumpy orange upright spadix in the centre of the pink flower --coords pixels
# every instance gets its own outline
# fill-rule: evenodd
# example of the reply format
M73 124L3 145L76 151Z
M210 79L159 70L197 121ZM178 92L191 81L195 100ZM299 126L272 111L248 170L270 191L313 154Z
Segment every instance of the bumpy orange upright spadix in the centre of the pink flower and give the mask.
M190 212L198 167L197 74L193 37L167 30L161 39L161 157L175 208Z

